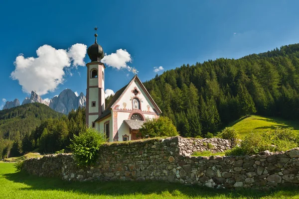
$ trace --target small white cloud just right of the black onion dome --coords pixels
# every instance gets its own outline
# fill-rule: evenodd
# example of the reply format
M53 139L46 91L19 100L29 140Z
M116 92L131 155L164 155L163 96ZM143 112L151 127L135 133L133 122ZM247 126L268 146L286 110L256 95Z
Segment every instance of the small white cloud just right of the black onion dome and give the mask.
M127 63L132 62L132 58L126 49L118 49L116 53L111 53L110 55L105 53L105 57L102 59L102 62L119 70L122 68L127 68L129 70L130 67L127 65Z

